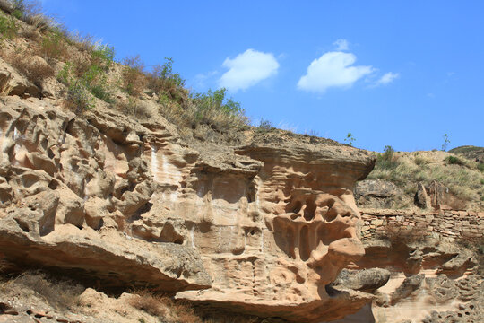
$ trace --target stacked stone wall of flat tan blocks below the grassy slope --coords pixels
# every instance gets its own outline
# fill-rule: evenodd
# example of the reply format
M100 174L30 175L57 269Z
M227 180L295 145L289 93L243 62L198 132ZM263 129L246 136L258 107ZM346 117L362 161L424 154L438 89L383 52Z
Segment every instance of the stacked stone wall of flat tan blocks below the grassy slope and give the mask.
M363 220L362 240L385 236L389 231L420 236L437 233L469 239L484 235L484 212L439 210L416 213L376 209L361 209L360 212Z

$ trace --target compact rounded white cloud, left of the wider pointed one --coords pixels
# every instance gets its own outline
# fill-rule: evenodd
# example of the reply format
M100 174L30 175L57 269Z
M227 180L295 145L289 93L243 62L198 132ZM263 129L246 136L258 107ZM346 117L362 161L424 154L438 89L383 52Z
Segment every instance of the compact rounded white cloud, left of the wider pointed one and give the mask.
M229 71L221 75L220 86L237 92L277 74L279 63L272 53L247 49L234 59L225 59L222 66L229 68Z

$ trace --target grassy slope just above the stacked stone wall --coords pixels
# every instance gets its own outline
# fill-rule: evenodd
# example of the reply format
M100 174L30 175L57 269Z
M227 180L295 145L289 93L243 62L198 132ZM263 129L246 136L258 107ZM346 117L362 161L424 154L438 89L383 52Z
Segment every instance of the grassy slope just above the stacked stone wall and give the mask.
M431 186L442 187L445 194L440 198L444 208L484 209L484 163L473 155L457 150L387 152L376 153L375 169L357 185L356 195L363 196L359 206L419 209L422 205L416 202L416 195L421 183L428 194Z

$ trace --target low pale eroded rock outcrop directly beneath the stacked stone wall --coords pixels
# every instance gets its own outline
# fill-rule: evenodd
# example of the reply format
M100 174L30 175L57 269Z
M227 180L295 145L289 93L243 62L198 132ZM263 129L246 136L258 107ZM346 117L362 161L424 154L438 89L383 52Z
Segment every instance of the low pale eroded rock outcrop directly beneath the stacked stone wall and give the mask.
M357 290L364 285L377 287L367 289L373 295L373 313L360 311L356 316L360 321L372 321L370 317L376 323L482 320L484 285L471 250L438 236L412 242L365 240L364 246L365 256L333 283ZM367 277L372 271L379 274Z

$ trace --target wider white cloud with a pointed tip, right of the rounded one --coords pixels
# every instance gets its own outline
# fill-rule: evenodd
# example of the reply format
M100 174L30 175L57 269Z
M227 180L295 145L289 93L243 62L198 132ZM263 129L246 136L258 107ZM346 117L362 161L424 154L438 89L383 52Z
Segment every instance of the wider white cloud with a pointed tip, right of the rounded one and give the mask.
M360 78L374 72L373 66L351 66L356 56L341 51L328 52L307 67L307 74L298 88L311 92L325 92L330 87L350 87Z

